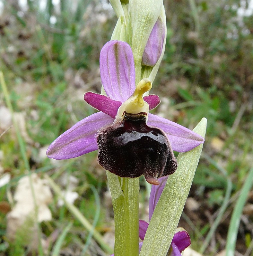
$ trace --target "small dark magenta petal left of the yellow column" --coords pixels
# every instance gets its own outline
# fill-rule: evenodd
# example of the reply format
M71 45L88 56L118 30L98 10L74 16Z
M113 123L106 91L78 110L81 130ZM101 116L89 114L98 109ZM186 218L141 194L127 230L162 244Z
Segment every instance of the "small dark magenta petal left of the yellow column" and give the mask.
M104 112L112 118L116 117L118 108L122 104L120 101L112 100L108 96L94 92L86 92L83 98L93 108Z

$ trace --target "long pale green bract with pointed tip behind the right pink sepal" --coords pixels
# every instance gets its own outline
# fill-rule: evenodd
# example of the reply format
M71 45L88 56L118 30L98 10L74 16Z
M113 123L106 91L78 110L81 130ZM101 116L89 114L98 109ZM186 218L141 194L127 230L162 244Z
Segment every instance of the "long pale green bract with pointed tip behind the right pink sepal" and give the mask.
M194 131L205 137L206 119ZM191 151L180 153L177 171L170 176L163 189L149 223L140 256L165 256L183 211L203 144Z

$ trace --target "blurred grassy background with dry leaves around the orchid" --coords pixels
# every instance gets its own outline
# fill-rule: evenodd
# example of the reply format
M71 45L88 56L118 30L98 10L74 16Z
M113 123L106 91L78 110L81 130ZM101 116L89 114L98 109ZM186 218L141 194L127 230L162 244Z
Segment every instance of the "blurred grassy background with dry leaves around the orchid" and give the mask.
M167 43L152 89L161 104L153 112L191 129L202 117L208 120L179 226L190 233L195 251L223 255L253 159L253 1L164 0L164 5ZM109 255L55 189L47 202L52 218L36 227L37 245L27 238L34 236L34 224L26 221L14 236L7 214L18 201L13 198L18 181L30 170L38 179L48 177L45 185L50 176L62 194L68 192L68 202L113 245L111 199L96 152L57 161L45 152L56 137L96 111L83 94L100 92L99 54L116 21L102 0L0 1L0 70L21 133L12 127L12 109L0 89L1 256ZM140 185L140 217L146 218L149 194L142 177ZM235 255L253 255L252 208L251 190L238 216Z

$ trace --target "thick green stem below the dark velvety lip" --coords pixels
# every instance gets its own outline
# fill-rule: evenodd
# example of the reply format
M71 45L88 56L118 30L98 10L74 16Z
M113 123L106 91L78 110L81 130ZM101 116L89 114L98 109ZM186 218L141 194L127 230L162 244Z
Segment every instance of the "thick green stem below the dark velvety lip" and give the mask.
M139 254L139 178L121 178L106 172L115 222L115 256Z

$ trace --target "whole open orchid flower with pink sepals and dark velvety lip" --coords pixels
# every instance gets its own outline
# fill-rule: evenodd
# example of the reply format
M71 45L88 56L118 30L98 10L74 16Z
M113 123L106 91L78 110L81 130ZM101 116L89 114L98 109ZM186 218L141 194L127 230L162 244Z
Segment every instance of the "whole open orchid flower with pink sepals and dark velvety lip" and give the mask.
M100 75L107 94L84 94L84 100L100 112L76 123L48 148L54 159L68 159L98 149L98 161L121 177L144 175L152 184L169 175L177 164L173 151L185 152L204 142L193 131L162 117L149 114L160 99L143 97L152 87L143 79L135 88L131 47L110 41L100 53Z

